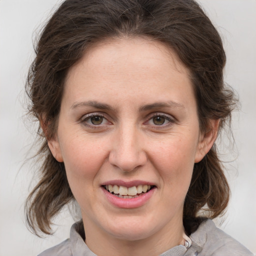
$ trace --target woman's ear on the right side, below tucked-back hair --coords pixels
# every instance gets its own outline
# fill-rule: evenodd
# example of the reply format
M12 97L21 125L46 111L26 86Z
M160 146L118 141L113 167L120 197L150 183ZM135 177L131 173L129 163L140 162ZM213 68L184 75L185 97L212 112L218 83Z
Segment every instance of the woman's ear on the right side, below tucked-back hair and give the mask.
M212 147L217 134L218 134L218 125L220 119L210 119L209 128L205 133L202 133L197 144L197 149L194 157L194 162L199 162L210 150Z

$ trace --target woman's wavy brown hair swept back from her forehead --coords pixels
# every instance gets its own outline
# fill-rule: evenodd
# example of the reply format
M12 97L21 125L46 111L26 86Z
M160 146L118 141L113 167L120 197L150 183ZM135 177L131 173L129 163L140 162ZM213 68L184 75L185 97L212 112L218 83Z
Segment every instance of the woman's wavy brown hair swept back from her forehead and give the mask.
M29 227L50 233L51 219L73 199L63 163L52 156L47 139L55 135L67 70L98 41L118 36L147 36L172 48L190 70L197 100L200 130L209 119L220 119L219 129L230 119L235 100L223 82L225 53L221 38L201 7L193 0L66 0L55 11L37 42L26 91L29 112L43 120L38 128L43 160L38 184L26 201ZM42 118L43 117L43 118ZM216 147L194 164L183 209L183 221L195 219L207 205L214 218L225 209L229 187ZM186 231L193 231L185 224Z

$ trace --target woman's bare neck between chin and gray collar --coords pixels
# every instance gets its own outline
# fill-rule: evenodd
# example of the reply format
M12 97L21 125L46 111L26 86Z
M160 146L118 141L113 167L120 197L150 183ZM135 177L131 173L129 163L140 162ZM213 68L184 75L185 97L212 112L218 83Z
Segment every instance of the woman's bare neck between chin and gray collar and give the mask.
M102 230L96 230L95 227L91 229L90 223L84 223L85 243L98 256L156 256L176 245L184 244L182 219L179 224L174 223L175 225L166 225L152 235L136 240L116 238Z

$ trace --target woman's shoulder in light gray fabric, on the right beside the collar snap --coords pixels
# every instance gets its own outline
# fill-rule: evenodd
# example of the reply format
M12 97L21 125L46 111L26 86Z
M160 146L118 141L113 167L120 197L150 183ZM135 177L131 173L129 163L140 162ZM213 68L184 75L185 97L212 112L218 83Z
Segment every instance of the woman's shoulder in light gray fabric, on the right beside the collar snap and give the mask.
M200 224L191 239L201 247L198 255L253 256L241 243L217 228L210 219Z

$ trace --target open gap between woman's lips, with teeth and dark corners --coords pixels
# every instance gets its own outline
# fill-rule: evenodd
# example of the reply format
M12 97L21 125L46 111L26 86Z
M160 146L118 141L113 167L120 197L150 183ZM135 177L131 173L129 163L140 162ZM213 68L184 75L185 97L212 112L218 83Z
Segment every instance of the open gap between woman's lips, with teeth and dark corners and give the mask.
M149 190L151 190L154 185L137 185L137 186L118 186L118 185L103 185L103 187L111 194L120 198L135 198L138 197Z

